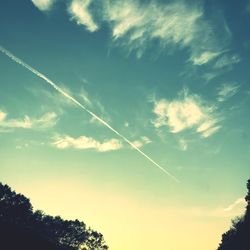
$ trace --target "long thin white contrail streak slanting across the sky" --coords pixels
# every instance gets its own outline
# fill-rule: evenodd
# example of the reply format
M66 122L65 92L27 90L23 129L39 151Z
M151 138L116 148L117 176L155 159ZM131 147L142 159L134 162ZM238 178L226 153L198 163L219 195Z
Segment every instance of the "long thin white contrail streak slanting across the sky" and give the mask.
M166 169L164 169L162 166L160 166L157 162L155 162L153 159L151 159L151 157L149 157L147 154L145 154L142 150L140 150L134 143L132 143L129 139L127 139L125 136L123 136L122 134L120 134L116 129L114 129L112 126L110 126L107 122L105 122L102 118L100 118L98 115L96 115L95 113L93 113L91 110L89 110L88 108L86 108L85 106L83 106L79 101L77 101L74 97L72 97L71 95L69 95L68 93L66 93L63 89L61 89L57 84L55 84L52 80L50 80L47 76L45 76L44 74L40 73L39 71L37 71L36 69L34 69L33 67L31 67L30 65L28 65L27 63L25 63L24 61L22 61L21 59L19 59L18 57L14 56L10 51L8 51L7 49L5 49L4 47L2 47L0 45L0 52L2 52L3 54L5 54L6 56L8 56L12 61L20 64L21 66L23 66L24 68L28 69L29 71L31 71L33 74L35 74L36 76L38 76L39 78L43 79L45 82L47 82L49 85L51 85L56 91L58 91L59 93L61 93L63 96L65 96L66 98L68 98L69 100L71 100L73 103L75 103L79 108L83 109L84 111L86 111L87 113L89 113L92 117L94 117L95 119L97 119L100 123L102 123L104 126L106 126L107 128L109 128L111 131L113 131L117 136L119 136L120 138L122 138L125 142L127 142L133 149L135 149L136 151L138 151L142 156L144 156L146 159L148 159L151 163L153 163L156 167L158 167L162 172L164 172L165 174L167 174L169 177L171 177L173 180L175 180L176 182L180 182L174 175L172 175L170 172L168 172Z

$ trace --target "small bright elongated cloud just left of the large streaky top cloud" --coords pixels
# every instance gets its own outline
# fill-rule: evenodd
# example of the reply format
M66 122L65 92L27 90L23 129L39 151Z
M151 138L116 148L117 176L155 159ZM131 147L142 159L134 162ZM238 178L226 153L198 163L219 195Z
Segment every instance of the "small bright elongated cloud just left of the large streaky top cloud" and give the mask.
M92 0L72 0L69 6L69 14L78 25L84 25L87 30L94 32L98 25L94 22L89 6Z

